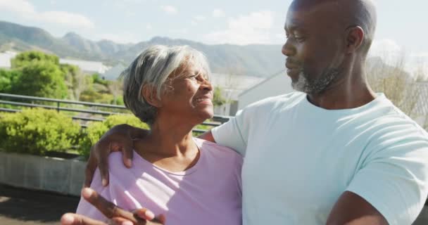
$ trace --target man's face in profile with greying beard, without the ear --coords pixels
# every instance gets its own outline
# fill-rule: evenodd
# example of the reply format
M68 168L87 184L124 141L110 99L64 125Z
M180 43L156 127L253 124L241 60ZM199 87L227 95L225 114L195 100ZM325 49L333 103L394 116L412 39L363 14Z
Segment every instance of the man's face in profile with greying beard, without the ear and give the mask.
M287 13L287 41L282 53L287 56L287 74L297 91L320 94L340 73L344 30L334 7L329 5L310 6L295 1Z

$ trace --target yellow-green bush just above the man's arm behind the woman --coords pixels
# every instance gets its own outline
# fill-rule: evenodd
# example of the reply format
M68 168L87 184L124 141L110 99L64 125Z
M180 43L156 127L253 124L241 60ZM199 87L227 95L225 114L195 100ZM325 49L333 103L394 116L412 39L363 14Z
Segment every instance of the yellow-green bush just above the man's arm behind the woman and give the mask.
M111 115L103 122L91 122L82 135L80 140L79 153L85 158L89 157L91 147L103 136L108 129L111 129L118 124L128 124L133 127L149 129L149 125L141 122L134 115Z

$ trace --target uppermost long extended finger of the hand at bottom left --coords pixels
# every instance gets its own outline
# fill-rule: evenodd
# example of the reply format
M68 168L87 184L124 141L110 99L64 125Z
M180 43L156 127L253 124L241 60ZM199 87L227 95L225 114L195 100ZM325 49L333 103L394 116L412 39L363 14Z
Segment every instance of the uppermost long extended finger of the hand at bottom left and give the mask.
M132 212L128 212L127 210L122 210L120 207L115 204L109 202L103 196L96 193L96 191L91 188L83 188L82 189L82 197L87 200L89 203L94 205L100 212L104 214L107 218L113 217L122 217L124 219L128 219L132 221L132 223L137 224L139 219L134 217Z

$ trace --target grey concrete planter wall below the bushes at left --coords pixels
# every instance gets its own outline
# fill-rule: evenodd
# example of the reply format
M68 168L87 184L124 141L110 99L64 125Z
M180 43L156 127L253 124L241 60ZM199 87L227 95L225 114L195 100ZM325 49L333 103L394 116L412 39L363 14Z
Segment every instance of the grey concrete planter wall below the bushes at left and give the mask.
M0 183L80 196L86 162L0 152Z

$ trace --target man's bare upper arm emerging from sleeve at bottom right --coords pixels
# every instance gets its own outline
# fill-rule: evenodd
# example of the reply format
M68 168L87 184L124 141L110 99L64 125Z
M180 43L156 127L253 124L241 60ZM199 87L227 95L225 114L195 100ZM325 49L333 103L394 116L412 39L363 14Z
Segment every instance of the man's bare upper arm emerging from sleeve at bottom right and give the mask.
M327 225L388 225L388 222L364 198L345 191L330 212Z

